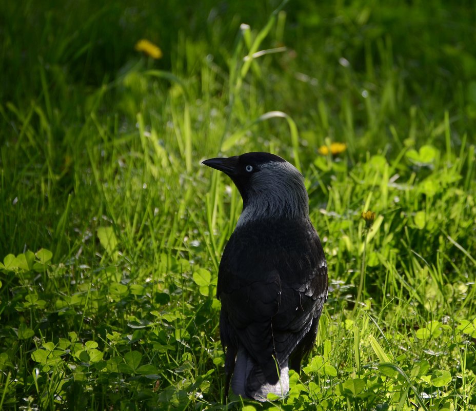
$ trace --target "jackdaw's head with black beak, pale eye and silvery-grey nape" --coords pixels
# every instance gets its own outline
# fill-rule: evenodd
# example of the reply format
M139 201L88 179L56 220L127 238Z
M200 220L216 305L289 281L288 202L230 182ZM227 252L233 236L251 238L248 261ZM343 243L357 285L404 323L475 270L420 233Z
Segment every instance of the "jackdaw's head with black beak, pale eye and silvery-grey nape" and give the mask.
M253 220L304 218L309 214L302 174L280 156L251 152L203 161L231 178L243 198L237 226Z

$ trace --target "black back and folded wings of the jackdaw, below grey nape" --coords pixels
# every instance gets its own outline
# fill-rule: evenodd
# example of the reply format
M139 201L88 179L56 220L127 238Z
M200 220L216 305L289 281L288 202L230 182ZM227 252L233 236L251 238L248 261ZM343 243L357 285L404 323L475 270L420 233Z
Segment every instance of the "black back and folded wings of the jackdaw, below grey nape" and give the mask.
M276 382L273 357L280 366L287 362L327 297L327 265L310 221L235 230L220 263L217 297L222 343L233 356L227 355L227 373L242 345L267 381Z

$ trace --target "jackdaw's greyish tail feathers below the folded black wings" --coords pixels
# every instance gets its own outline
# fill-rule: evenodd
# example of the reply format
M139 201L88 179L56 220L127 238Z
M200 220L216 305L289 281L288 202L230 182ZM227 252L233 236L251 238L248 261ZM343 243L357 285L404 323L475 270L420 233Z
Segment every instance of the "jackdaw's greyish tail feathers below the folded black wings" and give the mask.
M289 391L288 361L280 366L280 378L270 383L259 364L240 347L236 355L236 363L231 380L231 389L236 395L264 402L272 393L284 397Z

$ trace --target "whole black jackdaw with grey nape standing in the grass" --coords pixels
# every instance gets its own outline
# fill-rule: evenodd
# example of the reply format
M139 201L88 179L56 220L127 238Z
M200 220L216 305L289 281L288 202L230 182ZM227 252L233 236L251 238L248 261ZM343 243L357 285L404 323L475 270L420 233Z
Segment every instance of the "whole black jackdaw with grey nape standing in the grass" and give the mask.
M328 297L327 262L309 218L303 175L272 153L212 158L231 178L243 210L219 265L225 400L284 398L316 339Z

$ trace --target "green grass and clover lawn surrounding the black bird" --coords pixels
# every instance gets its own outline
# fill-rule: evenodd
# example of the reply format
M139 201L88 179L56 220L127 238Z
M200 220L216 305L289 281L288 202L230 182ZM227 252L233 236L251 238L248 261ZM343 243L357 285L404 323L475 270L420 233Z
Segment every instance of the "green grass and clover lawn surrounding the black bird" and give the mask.
M229 408L476 409L474 5L98 3L0 5L0 408L225 409L200 162L264 150L331 291L289 396Z

